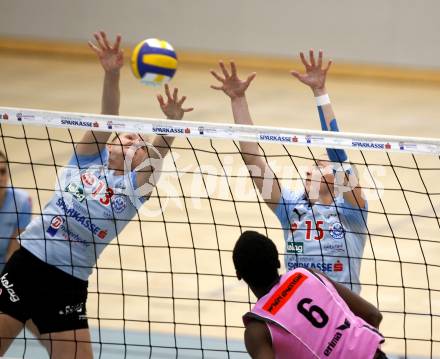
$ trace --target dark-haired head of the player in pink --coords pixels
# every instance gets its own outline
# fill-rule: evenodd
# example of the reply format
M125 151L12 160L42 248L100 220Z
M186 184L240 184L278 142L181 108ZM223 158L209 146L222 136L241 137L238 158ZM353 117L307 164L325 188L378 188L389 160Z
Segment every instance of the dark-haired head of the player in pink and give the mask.
M270 289L279 278L277 247L258 232L246 231L238 238L232 259L238 279L243 279L253 291Z

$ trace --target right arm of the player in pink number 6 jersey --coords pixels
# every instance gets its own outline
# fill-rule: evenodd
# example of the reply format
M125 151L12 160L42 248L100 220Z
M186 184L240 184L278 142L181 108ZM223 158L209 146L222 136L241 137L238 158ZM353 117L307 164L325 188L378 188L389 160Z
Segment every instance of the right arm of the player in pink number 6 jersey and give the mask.
M341 298L347 303L350 310L358 317L365 320L368 324L371 324L375 328L379 328L380 322L382 321L382 314L379 309L377 309L373 304L366 301L360 295L352 292L347 287L340 283L335 282L330 279L322 272L311 270L315 275L319 274L325 277L336 289Z

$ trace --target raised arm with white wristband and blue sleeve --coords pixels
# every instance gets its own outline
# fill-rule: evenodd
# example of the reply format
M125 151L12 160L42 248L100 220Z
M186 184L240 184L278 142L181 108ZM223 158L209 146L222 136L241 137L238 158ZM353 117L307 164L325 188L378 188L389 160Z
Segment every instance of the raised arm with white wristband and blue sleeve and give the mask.
M318 59L315 59L313 50L309 52L309 60L306 59L304 53L300 53L301 62L305 67L305 73L299 73L292 71L291 74L296 77L300 82L310 87L316 98L319 120L321 122L321 128L324 131L339 132L338 123L336 121L333 107L328 97L328 91L325 86L327 78L327 72L330 69L332 61L330 60L325 67L323 67L323 52L319 51ZM338 163L344 163L347 161L348 156L344 150L341 149L327 149L327 154L330 161L336 165ZM339 167L339 166L338 166ZM344 185L347 185L348 176L356 176L355 183L357 184L352 191L344 192L344 198L351 205L365 208L365 200L362 198L362 189L359 187L359 178L357 178L357 171L352 170L346 174Z

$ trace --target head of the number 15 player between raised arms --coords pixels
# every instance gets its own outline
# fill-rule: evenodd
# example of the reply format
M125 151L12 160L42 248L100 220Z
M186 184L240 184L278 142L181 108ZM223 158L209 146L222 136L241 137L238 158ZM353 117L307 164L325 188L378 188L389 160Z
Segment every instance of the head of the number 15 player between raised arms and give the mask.
M319 201L329 194L334 197L335 175L329 160L317 160L306 170L305 190L310 201Z

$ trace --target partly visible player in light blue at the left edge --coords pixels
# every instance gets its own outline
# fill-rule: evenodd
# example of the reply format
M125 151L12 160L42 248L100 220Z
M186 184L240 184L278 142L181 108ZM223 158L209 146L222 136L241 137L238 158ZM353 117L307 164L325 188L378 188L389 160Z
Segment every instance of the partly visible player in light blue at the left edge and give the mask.
M0 272L19 247L17 236L31 221L32 200L29 194L10 186L6 155L0 151Z

